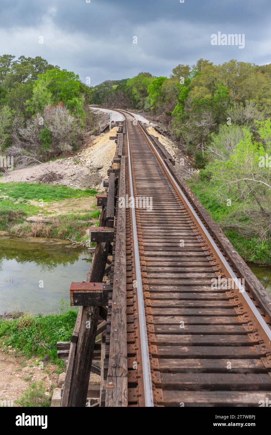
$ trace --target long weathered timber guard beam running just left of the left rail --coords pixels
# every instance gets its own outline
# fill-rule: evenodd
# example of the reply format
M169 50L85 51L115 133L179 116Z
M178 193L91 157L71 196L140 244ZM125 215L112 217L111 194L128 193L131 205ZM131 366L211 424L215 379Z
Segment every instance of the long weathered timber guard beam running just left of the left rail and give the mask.
M125 157L121 157L119 196L125 197ZM126 209L118 208L112 294L110 352L105 406L127 406Z

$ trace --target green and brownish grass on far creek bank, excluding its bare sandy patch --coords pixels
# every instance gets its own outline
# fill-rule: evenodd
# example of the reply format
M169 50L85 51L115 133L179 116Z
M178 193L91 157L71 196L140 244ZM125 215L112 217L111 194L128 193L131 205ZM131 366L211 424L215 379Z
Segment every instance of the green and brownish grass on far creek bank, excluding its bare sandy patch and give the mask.
M28 216L39 214L43 216L49 212L44 207L30 204L29 201L50 203L67 198L81 198L94 196L95 189L72 189L67 186L30 184L30 183L5 183L0 184L0 195L8 196L0 200L0 230L9 231L20 236L57 237L81 241L89 224L79 221L97 219L100 210L91 210L85 214L70 214L57 216L54 224L30 224L26 222ZM94 207L96 208L95 204ZM64 227L66 225L66 227Z

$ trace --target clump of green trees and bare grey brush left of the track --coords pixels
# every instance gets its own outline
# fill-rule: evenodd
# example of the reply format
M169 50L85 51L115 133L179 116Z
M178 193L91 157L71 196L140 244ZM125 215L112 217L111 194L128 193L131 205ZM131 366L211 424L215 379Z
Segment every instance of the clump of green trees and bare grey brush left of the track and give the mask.
M46 161L76 149L93 121L92 94L77 74L40 56L0 56L0 154L7 149L15 162L27 164L22 156Z

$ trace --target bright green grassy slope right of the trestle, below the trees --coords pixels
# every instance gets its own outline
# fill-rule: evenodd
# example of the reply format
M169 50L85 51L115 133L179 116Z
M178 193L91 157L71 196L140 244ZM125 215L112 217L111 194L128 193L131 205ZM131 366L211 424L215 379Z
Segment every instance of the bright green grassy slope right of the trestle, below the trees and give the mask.
M244 261L258 264L271 264L271 241L261 240L254 234L251 237L245 235L241 228L229 229L228 224L238 223L244 228L254 228L254 222L247 214L249 204L238 201L228 191L219 190L219 184L212 181L201 181L196 177L188 180L187 184L196 195L201 204L211 214L214 221L220 226L229 241ZM222 199L221 199L222 198ZM227 206L227 198L231 199L231 206ZM252 206L251 206L252 207Z

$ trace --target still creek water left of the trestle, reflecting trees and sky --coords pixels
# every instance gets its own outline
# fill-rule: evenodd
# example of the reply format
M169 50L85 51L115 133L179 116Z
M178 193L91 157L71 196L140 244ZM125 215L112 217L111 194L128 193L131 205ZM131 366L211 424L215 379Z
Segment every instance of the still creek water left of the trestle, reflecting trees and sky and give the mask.
M56 311L60 299L70 300L71 281L84 281L90 259L65 242L0 237L0 314Z

